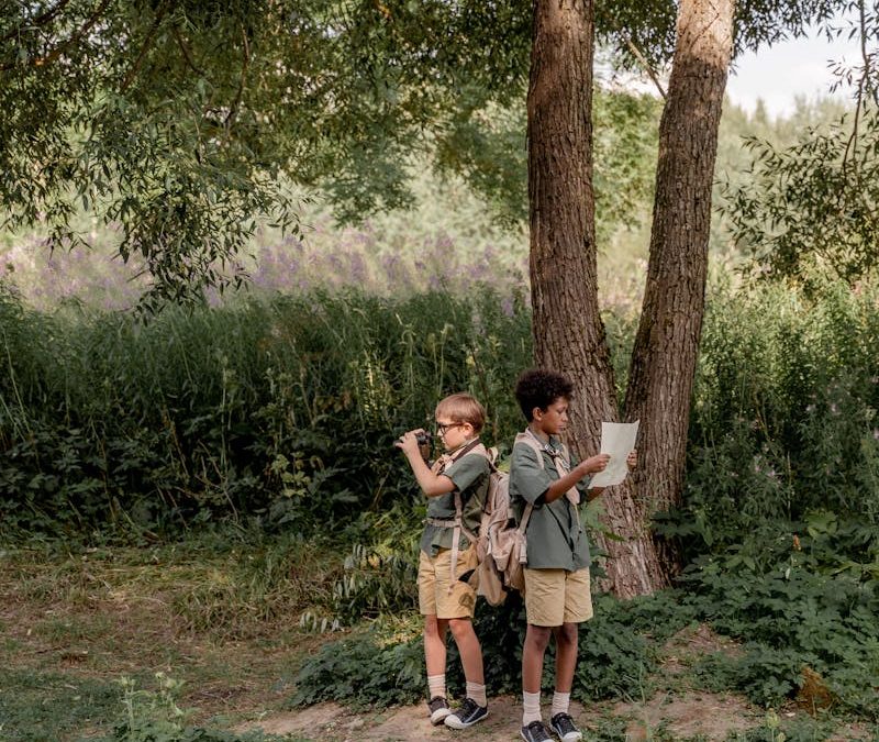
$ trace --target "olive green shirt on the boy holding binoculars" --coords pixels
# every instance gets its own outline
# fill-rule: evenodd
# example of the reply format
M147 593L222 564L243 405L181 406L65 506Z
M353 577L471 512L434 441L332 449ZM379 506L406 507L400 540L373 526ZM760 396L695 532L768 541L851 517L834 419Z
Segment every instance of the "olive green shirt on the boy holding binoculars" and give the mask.
M481 447L481 446L480 446ZM443 472L455 485L455 489L445 495L430 498L427 502L427 518L450 520L455 518L455 492L460 492L461 524L474 535L479 535L479 525L482 521L482 508L488 494L489 480L488 459L481 453L468 453L454 461ZM430 556L436 556L441 549L452 549L452 539L455 530L441 525L425 524L421 536L421 551ZM461 551L470 545L470 540L461 533L459 547Z

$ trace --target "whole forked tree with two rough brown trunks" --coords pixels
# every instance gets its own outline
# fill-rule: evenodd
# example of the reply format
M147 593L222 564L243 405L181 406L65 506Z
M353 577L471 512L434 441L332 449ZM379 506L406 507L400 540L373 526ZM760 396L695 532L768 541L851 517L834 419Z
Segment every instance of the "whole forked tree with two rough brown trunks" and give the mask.
M659 162L649 264L625 398L641 420L642 467L608 494L607 572L623 597L668 584L674 555L649 529L678 502L704 313L711 186L733 51L734 0L682 0ZM528 86L528 201L538 364L576 379L575 450L593 452L616 421L613 368L599 313L591 158L590 0L535 2Z

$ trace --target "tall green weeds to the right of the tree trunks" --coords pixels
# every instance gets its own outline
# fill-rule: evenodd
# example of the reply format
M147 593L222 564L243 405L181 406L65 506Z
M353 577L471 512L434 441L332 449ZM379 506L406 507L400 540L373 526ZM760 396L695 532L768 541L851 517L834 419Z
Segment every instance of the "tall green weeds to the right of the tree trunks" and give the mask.
M879 518L879 284L716 288L685 501L719 531L813 510Z

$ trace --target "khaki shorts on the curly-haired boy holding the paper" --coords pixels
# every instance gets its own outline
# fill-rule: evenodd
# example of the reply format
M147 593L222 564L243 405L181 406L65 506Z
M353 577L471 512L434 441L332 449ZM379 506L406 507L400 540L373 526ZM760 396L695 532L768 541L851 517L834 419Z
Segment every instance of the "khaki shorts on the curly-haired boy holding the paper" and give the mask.
M560 627L592 618L589 569L525 568L525 613L535 627Z

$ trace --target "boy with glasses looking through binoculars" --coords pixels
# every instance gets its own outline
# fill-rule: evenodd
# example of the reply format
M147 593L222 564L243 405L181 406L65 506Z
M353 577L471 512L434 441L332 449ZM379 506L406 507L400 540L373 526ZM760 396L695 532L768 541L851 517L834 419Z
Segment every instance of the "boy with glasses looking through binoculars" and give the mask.
M409 431L394 445L429 499L419 555L419 610L424 616L431 722L466 729L488 716L482 649L472 625L476 591L458 579L477 566L475 539L490 472L479 441L486 411L470 395L456 394L439 401L434 418L445 453L433 466L419 450L423 430ZM446 630L458 646L467 680L467 696L455 712L446 700Z

